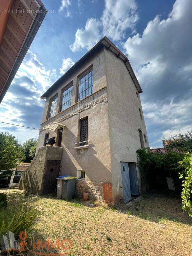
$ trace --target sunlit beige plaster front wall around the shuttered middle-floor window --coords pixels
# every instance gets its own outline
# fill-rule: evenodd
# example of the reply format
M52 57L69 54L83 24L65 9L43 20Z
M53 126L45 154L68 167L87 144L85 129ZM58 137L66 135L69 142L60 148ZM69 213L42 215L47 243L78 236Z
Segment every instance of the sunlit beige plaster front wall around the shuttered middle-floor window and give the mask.
M89 148L76 150L78 142L79 119L88 116ZM77 175L77 170L85 170L85 180L111 182L111 157L108 127L108 103L106 88L93 93L92 96L75 104L52 118L66 127L62 136L63 155L61 174ZM42 126L50 123L48 120ZM41 130L38 147L44 143L44 135L48 132ZM55 136L50 132L50 136Z

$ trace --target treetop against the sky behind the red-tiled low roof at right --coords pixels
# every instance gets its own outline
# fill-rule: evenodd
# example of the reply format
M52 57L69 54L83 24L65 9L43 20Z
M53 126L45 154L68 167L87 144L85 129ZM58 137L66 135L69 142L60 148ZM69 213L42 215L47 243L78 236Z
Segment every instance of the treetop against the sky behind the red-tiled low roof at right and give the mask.
M180 148L192 152L192 132L188 131L184 135L174 135L165 141L167 143L167 148Z

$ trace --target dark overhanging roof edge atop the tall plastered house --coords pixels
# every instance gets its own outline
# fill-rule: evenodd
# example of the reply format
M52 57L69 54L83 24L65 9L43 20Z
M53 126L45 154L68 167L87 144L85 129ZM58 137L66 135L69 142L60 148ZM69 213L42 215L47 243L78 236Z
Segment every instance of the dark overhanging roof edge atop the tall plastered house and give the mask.
M108 50L114 52L117 58L120 58L124 61L131 77L133 83L135 84L139 93L142 92L140 84L135 76L135 73L131 67L131 64L128 58L106 37L104 36L99 43L95 44L93 48L87 52L80 60L78 60L71 68L68 69L67 72L63 76L61 76L42 96L41 99L46 99L52 92L54 92L60 84L65 81L86 59L88 59L93 53L98 51L101 47L106 46Z

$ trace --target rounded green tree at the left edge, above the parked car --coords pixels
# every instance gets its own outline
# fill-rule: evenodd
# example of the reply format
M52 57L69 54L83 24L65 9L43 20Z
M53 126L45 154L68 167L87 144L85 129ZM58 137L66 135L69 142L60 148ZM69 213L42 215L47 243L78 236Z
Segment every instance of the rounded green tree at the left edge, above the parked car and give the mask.
M22 147L15 136L0 132L0 170L16 167L24 158Z

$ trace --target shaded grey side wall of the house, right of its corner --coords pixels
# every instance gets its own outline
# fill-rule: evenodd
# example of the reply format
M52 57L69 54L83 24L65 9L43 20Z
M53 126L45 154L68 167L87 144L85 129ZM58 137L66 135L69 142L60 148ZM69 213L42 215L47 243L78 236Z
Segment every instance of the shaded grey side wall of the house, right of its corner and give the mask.
M116 58L116 55L109 50L107 51L106 48L105 58L112 164L112 190L113 199L119 201L123 198L123 191L122 188L120 188L122 187L120 162L137 162L136 150L141 148L138 129L140 129L146 137L147 131L144 117L143 120L140 118L139 108L142 111L140 97L138 98L136 95L138 91L124 62L120 58ZM148 146L147 137L145 147ZM140 183L139 172L137 174Z

